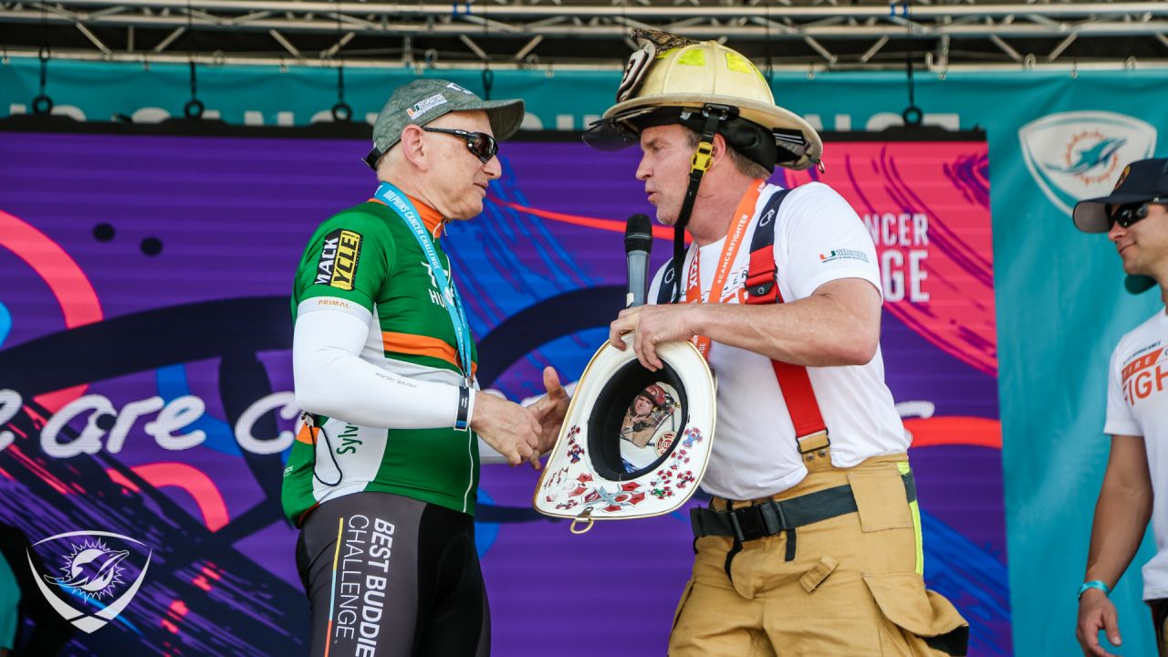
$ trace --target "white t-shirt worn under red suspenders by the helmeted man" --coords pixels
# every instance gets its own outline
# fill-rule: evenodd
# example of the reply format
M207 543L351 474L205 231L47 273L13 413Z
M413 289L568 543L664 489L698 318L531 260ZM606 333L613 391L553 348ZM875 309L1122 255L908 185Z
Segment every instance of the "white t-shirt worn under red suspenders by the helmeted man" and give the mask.
M723 303L743 303L758 215L779 191L767 185L759 196L728 276ZM827 185L809 182L793 189L774 221L774 261L784 300L809 297L823 283L840 278L862 278L881 289L871 235L851 206ZM703 300L709 298L724 241L701 248ZM696 244L690 245L683 279L696 251ZM654 277L649 299L656 299L666 269ZM770 359L714 341L709 361L718 382L718 413L702 487L719 497L753 499L801 482L807 469ZM850 468L872 456L908 449L909 436L884 385L880 350L867 365L808 367L807 373L832 438L834 465Z

